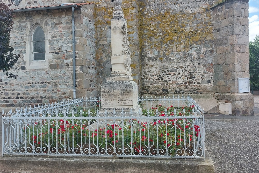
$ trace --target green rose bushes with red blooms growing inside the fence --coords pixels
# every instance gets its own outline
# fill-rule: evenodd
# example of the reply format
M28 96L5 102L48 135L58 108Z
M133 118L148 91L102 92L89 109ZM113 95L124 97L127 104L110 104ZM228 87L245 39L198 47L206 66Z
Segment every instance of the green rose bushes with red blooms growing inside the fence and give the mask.
M33 122L26 124L23 132L26 133L27 146L31 149L42 148L44 153L55 152L58 148L59 153L84 153L99 150L100 154L105 154L107 148L108 154L113 154L116 150L117 154L121 154L119 148L124 148L125 154L131 152L138 155L147 154L148 148L150 153L156 155L159 152L161 155L168 154L175 156L184 153L184 146L188 155L193 155L192 144L195 138L200 137L200 127L194 125L192 118L174 119L175 116L182 116L185 109L185 117L192 115L194 106L180 107L175 115L174 107L168 108L157 105L152 108L150 116L155 116L154 119L124 119L123 121L104 120L96 124L95 119L76 119L69 118L72 114L64 119L36 119ZM96 116L96 109L84 110L82 107L76 107L77 112L73 117L89 117ZM167 118L165 116L167 110ZM156 111L159 111L159 116L156 116ZM170 118L170 116L172 118ZM59 117L62 117L59 114ZM92 124L93 123L93 124ZM91 125L92 124L92 125ZM124 144L124 145L122 145ZM92 148L89 150L89 148ZM162 150L160 150L162 149Z

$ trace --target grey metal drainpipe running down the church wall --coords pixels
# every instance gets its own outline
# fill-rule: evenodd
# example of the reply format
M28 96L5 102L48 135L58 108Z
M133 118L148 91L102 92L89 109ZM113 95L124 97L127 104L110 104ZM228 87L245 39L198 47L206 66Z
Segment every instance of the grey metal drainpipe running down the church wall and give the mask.
M60 6L70 3L63 3ZM74 21L75 7L72 6L72 44L73 44L73 98L76 99L76 56L75 56L75 21Z

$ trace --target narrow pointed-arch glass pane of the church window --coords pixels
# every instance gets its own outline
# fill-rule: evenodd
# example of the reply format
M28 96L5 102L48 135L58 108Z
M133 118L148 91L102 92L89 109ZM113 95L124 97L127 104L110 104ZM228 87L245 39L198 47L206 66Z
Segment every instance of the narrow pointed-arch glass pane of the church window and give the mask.
M40 26L33 32L33 60L45 60L45 34Z

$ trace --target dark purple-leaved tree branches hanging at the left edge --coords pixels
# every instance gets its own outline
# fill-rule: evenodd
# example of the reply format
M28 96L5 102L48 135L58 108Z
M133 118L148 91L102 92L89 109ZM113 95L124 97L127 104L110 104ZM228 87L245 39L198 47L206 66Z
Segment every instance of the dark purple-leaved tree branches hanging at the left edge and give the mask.
M13 53L14 49L10 46L10 31L13 26L13 10L9 9L12 1L9 4L0 2L0 70L6 72L8 78L17 78L9 72L9 70L17 63L20 54Z

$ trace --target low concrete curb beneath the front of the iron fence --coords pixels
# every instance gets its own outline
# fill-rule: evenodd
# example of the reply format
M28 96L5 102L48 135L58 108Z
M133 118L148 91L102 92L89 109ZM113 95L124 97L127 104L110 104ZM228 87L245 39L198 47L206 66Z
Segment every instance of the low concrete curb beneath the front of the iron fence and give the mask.
M207 150L205 154L205 162L184 159L158 160L4 156L0 158L0 172L214 173L214 164Z

